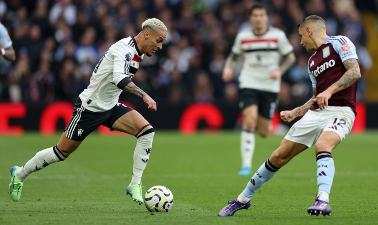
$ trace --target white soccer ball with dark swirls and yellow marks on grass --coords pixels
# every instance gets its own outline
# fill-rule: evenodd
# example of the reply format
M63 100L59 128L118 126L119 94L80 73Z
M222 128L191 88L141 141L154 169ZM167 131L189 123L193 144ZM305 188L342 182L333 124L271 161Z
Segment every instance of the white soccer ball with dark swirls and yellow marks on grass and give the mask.
M144 204L150 212L168 212L173 205L173 195L164 186L154 186L146 192Z

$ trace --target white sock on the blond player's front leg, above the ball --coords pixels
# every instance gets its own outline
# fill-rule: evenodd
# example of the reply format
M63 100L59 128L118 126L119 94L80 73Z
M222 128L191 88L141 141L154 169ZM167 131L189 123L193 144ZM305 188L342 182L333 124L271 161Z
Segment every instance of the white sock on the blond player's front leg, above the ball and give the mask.
M132 169L132 184L140 184L143 170L146 168L148 159L150 158L152 141L154 139L155 130L151 125L142 128L136 135L138 141L136 142L134 150L134 166Z

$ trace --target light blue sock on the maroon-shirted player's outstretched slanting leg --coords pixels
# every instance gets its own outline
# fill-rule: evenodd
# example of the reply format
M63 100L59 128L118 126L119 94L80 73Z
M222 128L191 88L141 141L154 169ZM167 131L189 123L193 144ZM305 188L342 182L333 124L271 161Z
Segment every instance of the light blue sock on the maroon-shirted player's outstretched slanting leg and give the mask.
M280 168L273 166L269 159L266 160L265 163L263 163L261 167L257 169L255 174L252 176L251 181L248 182L247 187L243 191L243 195L251 198L254 193L256 193L265 182L270 180L279 169Z

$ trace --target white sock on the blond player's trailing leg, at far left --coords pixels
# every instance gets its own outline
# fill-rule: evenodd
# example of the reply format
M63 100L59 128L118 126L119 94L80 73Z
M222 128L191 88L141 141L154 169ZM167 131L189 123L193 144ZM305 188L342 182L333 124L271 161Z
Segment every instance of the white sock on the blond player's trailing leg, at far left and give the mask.
M17 171L17 178L25 180L32 172L44 169L52 163L65 160L65 157L55 145L37 152L20 170Z

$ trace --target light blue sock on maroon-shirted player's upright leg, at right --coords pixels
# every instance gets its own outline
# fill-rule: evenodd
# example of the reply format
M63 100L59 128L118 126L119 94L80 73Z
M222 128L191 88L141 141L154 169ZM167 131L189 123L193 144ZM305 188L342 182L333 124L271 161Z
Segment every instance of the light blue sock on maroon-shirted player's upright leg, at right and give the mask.
M330 152L318 152L316 154L317 166L317 186L318 192L331 193L333 177L335 175L335 165Z

